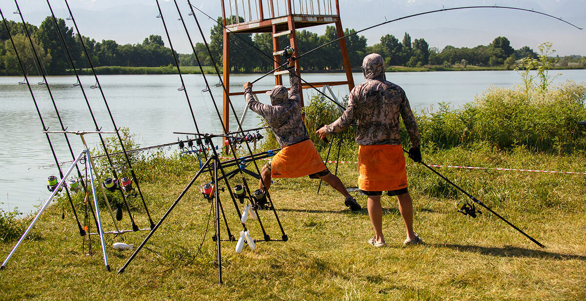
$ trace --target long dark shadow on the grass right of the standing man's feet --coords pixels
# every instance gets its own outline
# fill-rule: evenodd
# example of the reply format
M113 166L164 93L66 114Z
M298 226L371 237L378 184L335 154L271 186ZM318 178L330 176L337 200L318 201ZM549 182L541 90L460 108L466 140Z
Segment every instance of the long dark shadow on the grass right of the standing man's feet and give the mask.
M534 257L556 260L581 260L586 261L586 256L574 254L560 254L541 250L532 250L518 247L479 247L478 245L459 245L459 244L430 244L433 247L451 248L456 251L476 252L483 255L498 257Z

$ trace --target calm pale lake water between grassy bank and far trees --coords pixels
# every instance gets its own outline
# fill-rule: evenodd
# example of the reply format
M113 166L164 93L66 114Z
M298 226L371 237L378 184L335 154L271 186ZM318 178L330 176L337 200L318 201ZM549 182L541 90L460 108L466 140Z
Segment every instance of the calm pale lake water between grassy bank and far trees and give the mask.
M586 70L565 70L561 73L554 82L586 82ZM244 82L253 81L258 76L232 75L231 91L242 91ZM303 74L302 77L309 82L345 80L345 74ZM219 82L217 75L207 75L207 78L221 111L222 88L213 87ZM173 132L195 132L185 94L178 91L181 85L178 75L100 75L99 79L117 126L130 128L132 133L137 134L141 146L177 141L178 135ZM184 79L200 132L221 133L222 126L212 99L207 92L202 92L205 87L203 76L184 75ZM355 73L354 79L356 84L364 80L360 73ZM489 85L512 87L521 82L520 75L515 71L392 72L387 73L387 79L403 87L411 107L416 111L430 109L439 102L449 102L457 107L473 101L474 96L482 94ZM0 208L10 210L18 207L19 211L30 213L49 196L46 178L58 175L58 172L55 167L39 168L40 165L54 163L54 160L28 87L18 84L22 80L22 77L0 77L0 202L4 203L0 204ZM46 87L36 84L41 78L32 77L29 80L34 83L33 94L46 126L50 130L60 130ZM81 89L72 86L76 79L72 76L48 77L47 81L64 126L69 130L95 130ZM95 84L93 77L82 77L81 81L98 126L112 131L114 127L99 89L89 88ZM274 79L266 77L257 82L254 89L270 89L273 84ZM348 94L344 86L333 87L333 91L338 98ZM305 100L312 94L317 92L305 89ZM269 101L264 94L260 94L259 98L264 103ZM241 116L243 96L234 96L232 101L237 115ZM234 130L236 123L233 115L231 120L230 128ZM247 114L243 127L257 127L259 121L255 113ZM91 136L86 138L96 146L97 137ZM71 160L63 135L52 134L50 137L57 158L60 161ZM80 139L74 135L69 137L74 153L79 154L83 149ZM64 169L67 167L69 165L64 165Z

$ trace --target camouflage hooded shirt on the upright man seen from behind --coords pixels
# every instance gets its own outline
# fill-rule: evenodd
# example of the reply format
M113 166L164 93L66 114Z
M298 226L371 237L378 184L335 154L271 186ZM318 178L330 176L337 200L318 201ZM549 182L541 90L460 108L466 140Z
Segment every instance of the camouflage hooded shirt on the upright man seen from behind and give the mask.
M419 130L415 116L411 112L405 91L386 80L383 57L376 53L364 57L362 70L366 81L352 89L345 112L338 120L326 126L326 133L341 132L357 119L356 143L359 145L401 144L401 115L411 146L419 147Z

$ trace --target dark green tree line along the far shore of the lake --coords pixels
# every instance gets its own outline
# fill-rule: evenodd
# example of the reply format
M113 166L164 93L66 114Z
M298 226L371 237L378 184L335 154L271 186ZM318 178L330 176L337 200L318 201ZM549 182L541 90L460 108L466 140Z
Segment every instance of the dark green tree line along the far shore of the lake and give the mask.
M236 17L233 17L236 21ZM241 19L241 18L240 18ZM217 19L222 22L221 18ZM243 20L241 19L241 22ZM73 28L67 27L63 19L57 20L63 39L69 50L69 55L76 68L88 68L88 60L83 51L79 36ZM8 27L15 41L19 56L28 74L39 74L39 65L35 63L34 53L30 47L25 27L22 23L8 21ZM67 52L63 47L59 31L52 17L47 17L37 27L27 23L32 36L37 55L42 61L42 68L50 75L68 74L72 65ZM354 29L345 29L344 34L356 32ZM336 28L327 26L325 33L319 35L308 30L297 31L298 53L306 53L329 41L338 38ZM161 67L174 65L171 49L165 47L159 35L152 34L142 43L118 44L114 40L96 41L82 36L88 55L94 67L124 66L124 67ZM364 36L353 34L346 37L346 47L350 65L359 68L362 58L368 53L379 53L384 57L387 66L423 67L425 65L443 65L451 67L467 65L498 67L509 69L516 65L521 58L537 58L537 54L528 46L513 49L506 37L496 37L488 45L479 45L473 48L445 46L444 49L430 47L425 39L411 39L410 34L404 33L399 40L392 34L380 38L379 43L367 46ZM279 37L281 49L289 44L288 36ZM254 47L253 47L254 46ZM222 64L223 27L215 25L210 32L210 51L217 67ZM195 52L203 65L213 65L205 44L196 43ZM177 54L180 65L195 66L196 58L191 54ZM272 56L271 33L231 34L230 39L230 67L232 72L266 72L272 70L274 61ZM586 57L567 56L559 59L559 65L586 67ZM342 55L339 43L332 43L308 56L303 57L302 68L307 71L342 70ZM13 51L9 35L4 26L0 27L0 74L21 74L16 55Z

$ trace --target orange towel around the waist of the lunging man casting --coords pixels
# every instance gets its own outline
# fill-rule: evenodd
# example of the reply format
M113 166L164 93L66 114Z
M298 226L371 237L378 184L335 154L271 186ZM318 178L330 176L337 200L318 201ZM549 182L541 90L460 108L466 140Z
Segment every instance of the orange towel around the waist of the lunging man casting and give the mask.
M324 171L326 165L311 140L282 148L271 163L272 177L299 178Z

